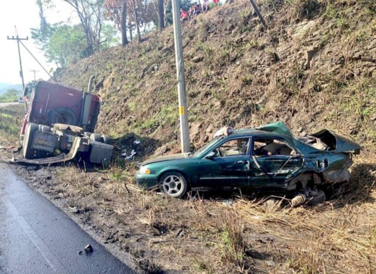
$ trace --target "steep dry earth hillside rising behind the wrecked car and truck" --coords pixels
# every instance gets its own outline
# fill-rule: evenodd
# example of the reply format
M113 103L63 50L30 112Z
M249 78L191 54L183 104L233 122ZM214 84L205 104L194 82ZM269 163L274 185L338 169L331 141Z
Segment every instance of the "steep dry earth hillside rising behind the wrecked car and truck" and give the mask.
M284 120L297 135L331 128L374 150L376 11L373 0L259 0L264 30L246 0L183 23L193 146L222 125ZM114 47L61 73L63 84L96 78L98 130L128 132L179 149L173 29ZM156 141L156 142L155 142Z

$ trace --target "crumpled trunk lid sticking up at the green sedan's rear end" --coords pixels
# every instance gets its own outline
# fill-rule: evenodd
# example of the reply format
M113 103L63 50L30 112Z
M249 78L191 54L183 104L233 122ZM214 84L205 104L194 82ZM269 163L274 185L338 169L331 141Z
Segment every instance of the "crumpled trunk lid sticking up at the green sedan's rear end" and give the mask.
M312 136L323 141L329 148L335 152L359 154L361 146L354 141L347 139L329 129L323 129L311 134Z

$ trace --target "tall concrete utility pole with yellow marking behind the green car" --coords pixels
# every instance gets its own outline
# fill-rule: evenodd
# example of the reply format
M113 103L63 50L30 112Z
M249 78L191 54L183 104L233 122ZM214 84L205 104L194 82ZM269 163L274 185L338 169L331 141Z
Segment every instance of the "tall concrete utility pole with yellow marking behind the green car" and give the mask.
M182 46L182 29L180 25L179 0L172 0L172 18L174 24L175 59L177 76L177 94L179 99L180 140L182 152L190 152L188 128L188 110L185 95L184 59Z

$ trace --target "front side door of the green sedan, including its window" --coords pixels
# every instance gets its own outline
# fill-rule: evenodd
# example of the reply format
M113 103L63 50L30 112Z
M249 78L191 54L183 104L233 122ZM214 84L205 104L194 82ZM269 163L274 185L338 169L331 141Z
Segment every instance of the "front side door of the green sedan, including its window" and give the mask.
M199 163L203 187L247 186L249 184L250 138L227 139Z

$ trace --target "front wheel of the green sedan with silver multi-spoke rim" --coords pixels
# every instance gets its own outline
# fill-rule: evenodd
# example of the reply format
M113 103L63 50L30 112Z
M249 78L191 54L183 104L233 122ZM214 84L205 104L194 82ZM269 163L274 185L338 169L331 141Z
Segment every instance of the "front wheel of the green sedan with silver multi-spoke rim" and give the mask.
M188 181L177 171L169 171L159 179L162 193L171 198L182 198L188 190Z

